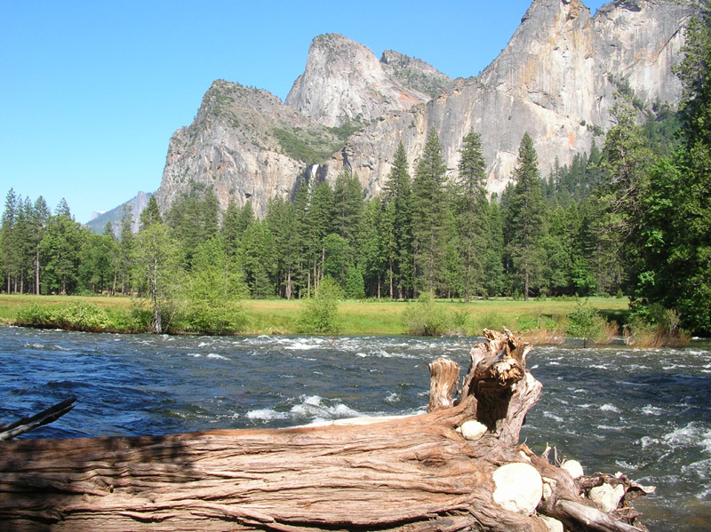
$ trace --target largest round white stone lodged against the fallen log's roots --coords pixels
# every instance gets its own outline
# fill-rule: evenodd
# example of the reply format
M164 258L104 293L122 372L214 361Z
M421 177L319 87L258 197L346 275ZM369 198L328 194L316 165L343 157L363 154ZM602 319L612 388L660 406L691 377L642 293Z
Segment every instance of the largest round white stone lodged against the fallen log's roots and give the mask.
M511 512L531 515L543 496L543 479L528 464L502 465L493 474L494 502Z

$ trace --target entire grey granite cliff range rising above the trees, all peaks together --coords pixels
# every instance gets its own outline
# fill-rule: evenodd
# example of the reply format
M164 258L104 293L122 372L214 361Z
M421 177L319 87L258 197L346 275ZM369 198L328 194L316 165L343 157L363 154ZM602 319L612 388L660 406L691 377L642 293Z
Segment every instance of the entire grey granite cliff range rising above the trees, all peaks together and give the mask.
M223 209L249 199L263 214L268 198L291 195L315 161L324 162L319 179L333 180L347 165L374 195L398 143L414 164L432 128L450 173L470 128L482 134L492 192L510 179L525 131L546 176L556 157L571 163L603 142L619 87L650 105L678 99L671 67L697 11L690 2L617 0L591 17L579 0L534 0L499 57L453 83L398 52L378 60L346 37L316 37L285 105L266 91L212 84L195 122L171 139L159 206L212 187ZM363 128L344 147L354 123Z

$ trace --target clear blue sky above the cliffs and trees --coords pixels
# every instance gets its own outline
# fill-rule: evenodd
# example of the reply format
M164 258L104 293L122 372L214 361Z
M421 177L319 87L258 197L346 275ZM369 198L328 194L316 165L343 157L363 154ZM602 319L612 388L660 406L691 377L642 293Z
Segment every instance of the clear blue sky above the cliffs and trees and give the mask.
M280 99L311 40L340 33L451 77L477 75L529 0L86 2L0 0L0 194L79 222L160 185L168 140L213 80ZM602 0L588 0L592 12Z

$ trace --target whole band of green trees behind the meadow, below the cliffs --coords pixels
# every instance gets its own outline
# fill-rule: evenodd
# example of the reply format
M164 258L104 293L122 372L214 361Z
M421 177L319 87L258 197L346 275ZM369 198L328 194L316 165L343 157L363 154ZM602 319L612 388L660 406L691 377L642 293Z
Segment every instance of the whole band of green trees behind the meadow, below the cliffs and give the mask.
M217 305L238 298L309 298L324 277L348 298L515 298L625 294L647 319L711 331L711 31L691 22L678 112L642 107L620 91L603 149L539 172L531 136L512 180L485 190L481 138L462 141L447 173L436 132L410 165L401 144L381 194L356 175L334 184L303 178L264 218L250 202L220 212L194 188L161 213L155 197L133 234L124 210L92 234L66 202L51 212L11 189L2 218L4 290L138 294L154 322L166 298Z

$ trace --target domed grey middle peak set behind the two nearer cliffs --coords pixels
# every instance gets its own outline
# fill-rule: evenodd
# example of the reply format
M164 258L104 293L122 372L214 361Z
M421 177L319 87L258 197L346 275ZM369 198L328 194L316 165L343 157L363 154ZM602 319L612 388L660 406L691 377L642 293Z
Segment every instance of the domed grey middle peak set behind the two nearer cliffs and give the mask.
M424 61L386 53L379 61L369 48L347 37L317 36L286 105L327 126L347 119L369 123L388 111L426 102L429 92L450 81Z

